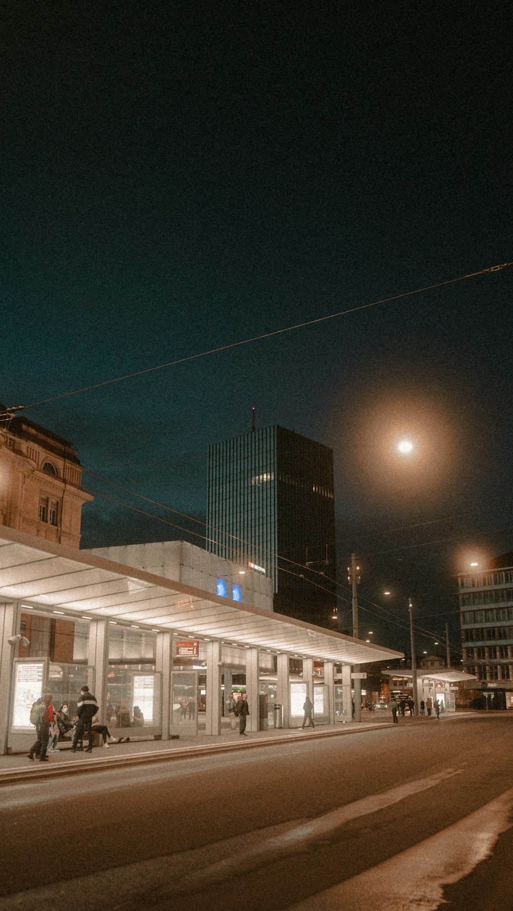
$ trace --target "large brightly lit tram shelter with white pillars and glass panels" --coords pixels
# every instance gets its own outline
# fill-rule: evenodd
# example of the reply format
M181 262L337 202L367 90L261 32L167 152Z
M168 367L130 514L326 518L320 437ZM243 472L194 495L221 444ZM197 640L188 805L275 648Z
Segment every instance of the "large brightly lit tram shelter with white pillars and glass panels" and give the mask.
M198 550L200 548L197 548ZM202 551L201 551L202 553ZM34 740L33 701L72 716L87 684L117 736L212 736L245 691L248 731L352 722L352 665L402 653L0 527L0 752ZM134 712L134 709L139 711ZM63 744L67 745L67 744Z

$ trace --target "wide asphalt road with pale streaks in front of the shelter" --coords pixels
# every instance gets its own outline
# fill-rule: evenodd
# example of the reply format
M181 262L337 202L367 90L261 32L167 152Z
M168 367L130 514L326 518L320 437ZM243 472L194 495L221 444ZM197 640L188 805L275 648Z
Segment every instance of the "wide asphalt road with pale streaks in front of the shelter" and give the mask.
M0 911L510 911L512 734L405 719L4 787Z

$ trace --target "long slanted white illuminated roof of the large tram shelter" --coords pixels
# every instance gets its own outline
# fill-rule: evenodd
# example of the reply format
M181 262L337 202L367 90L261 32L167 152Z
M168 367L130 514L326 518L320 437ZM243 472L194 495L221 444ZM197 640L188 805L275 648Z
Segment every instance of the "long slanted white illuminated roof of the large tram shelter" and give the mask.
M403 653L0 527L0 599L337 663Z

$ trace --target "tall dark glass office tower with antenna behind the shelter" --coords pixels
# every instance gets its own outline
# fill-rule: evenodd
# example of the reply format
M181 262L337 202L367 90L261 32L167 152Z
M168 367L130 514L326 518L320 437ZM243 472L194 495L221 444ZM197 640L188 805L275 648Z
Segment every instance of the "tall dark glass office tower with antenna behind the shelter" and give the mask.
M209 447L207 549L271 576L274 609L333 626L333 451L284 427Z

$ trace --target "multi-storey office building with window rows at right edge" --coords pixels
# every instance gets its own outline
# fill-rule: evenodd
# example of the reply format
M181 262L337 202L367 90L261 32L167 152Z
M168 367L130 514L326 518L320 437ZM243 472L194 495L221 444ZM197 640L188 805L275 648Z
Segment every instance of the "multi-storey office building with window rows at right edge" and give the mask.
M457 577L463 665L490 709L513 708L513 554Z

